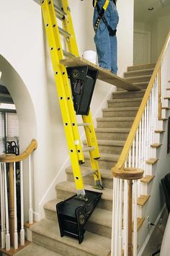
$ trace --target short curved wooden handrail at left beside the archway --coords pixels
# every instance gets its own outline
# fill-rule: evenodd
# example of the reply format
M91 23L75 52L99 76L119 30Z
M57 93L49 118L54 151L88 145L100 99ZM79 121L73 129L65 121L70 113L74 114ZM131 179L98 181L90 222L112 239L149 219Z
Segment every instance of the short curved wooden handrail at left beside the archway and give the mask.
M24 152L21 155L0 155L0 162L14 163L14 162L23 161L32 153L32 151L36 149L37 149L37 140L33 139L30 145L26 148L26 150L24 150Z

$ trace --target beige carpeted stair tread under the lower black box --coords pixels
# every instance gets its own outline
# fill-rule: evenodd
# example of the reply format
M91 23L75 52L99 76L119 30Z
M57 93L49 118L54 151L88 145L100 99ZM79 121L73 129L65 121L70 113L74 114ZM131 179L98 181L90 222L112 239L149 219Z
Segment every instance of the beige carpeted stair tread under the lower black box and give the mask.
M84 241L79 244L76 239L72 239L69 236L61 237L58 223L49 219L42 219L31 227L31 231L53 239L53 241L57 240L62 244L67 244L75 249L85 251L87 254L107 256L110 252L111 239L86 231L84 234Z

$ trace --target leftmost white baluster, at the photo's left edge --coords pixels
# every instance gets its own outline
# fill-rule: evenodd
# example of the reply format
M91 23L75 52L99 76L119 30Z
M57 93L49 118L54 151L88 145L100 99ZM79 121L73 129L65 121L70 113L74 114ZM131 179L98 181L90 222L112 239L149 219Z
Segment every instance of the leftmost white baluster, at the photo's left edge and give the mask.
M4 163L0 164L0 182L1 182L1 248L5 247L5 208L4 208Z

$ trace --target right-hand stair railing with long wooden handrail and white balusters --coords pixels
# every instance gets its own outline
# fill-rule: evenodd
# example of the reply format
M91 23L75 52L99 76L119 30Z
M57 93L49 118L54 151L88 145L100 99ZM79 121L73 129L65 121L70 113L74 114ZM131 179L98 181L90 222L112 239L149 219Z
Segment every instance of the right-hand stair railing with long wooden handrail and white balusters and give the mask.
M169 81L169 56L170 31L120 158L112 168L112 256L122 253L125 256L137 255L137 198L141 189L140 179L143 172L144 175L151 174L151 163L158 160L156 150L152 147L159 142L159 135L163 130L162 106L168 107L166 88Z

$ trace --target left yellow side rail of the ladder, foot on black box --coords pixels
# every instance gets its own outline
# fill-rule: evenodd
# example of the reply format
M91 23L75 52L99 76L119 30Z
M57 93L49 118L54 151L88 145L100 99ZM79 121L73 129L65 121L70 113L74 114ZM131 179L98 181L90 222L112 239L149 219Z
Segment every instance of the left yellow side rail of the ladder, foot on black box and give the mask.
M60 56L63 56L63 54L61 42L59 40L60 37L58 33L57 21L55 18L55 11L53 9L53 1L50 1L50 4L49 1L42 1L41 4L42 15L45 22L45 30L48 37L48 44L50 47L50 57L53 64L53 71L55 74L55 85L58 91L61 114L66 132L66 139L68 142L69 155L71 158L71 164L73 166L73 176L78 195L85 195L83 179L81 176L81 169L79 166L79 155L77 154L77 145L75 145L75 137L73 135L73 125L70 117L70 111L68 110L68 99L66 98L65 92L66 85L63 83L62 77L63 72L65 72L66 74L66 69L59 63L58 59L58 52L60 52Z

